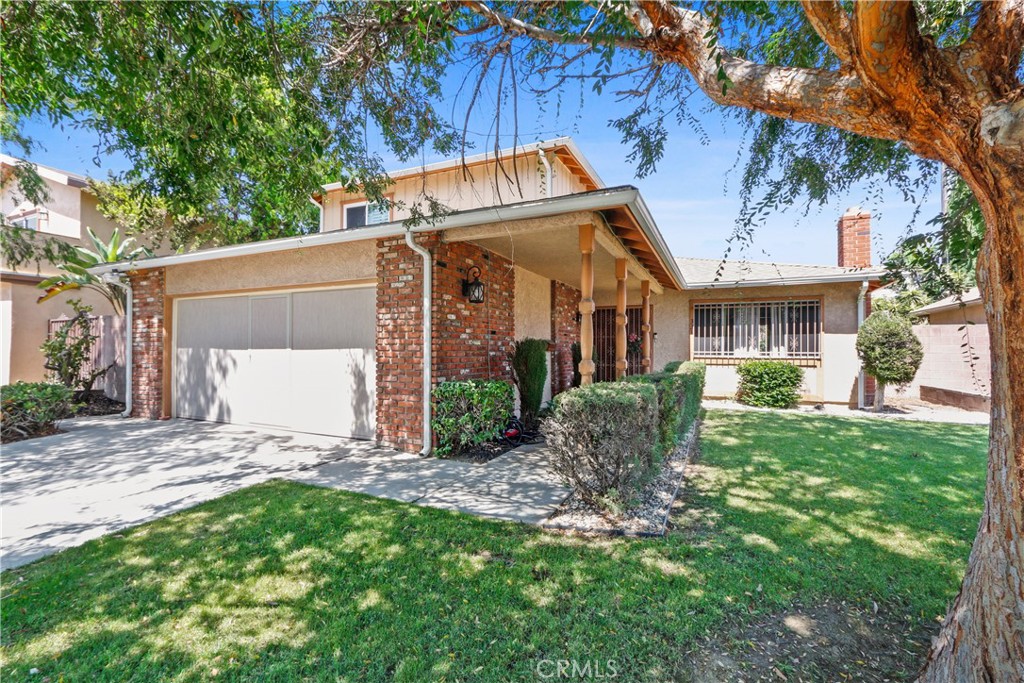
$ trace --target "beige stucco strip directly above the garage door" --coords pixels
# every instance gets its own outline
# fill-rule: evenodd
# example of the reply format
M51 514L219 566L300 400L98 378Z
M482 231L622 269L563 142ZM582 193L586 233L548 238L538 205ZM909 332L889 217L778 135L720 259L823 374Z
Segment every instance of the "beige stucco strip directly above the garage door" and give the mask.
M377 278L373 240L254 254L167 268L169 296L287 288Z

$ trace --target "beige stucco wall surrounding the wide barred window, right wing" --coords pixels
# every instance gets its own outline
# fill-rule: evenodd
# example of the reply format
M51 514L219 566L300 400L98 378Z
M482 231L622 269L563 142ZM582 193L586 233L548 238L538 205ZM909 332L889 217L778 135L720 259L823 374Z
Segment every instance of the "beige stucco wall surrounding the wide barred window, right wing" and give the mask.
M821 361L804 368L806 400L849 403L856 401L860 361L855 348L859 283L803 287L751 287L745 289L666 292L652 296L654 305L654 357L662 368L670 360L687 360L690 352L690 304L693 301L751 299L822 299ZM636 305L637 301L630 301ZM710 365L706 394L730 396L736 390L734 365Z

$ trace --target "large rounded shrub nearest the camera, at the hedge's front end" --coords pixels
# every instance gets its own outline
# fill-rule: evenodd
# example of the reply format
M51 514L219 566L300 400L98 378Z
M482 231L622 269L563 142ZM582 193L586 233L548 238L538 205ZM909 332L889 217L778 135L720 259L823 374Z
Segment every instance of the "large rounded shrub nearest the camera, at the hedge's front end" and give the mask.
M657 390L601 382L570 389L554 402L544 431L555 472L592 505L628 505L653 471Z

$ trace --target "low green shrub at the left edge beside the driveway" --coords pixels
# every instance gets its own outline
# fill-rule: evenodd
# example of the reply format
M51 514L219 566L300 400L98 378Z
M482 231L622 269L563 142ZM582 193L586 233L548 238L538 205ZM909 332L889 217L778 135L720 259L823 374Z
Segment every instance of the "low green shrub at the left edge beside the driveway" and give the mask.
M71 415L72 398L62 384L17 382L0 388L0 439L52 434L57 421Z

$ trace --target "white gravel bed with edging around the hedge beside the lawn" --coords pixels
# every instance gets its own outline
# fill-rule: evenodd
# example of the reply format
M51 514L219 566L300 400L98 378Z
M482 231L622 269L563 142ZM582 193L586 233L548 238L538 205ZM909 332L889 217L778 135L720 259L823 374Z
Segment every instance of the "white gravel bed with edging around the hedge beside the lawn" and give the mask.
M665 536L672 504L696 450L700 421L690 427L682 443L665 459L662 471L641 492L639 503L622 515L611 515L571 494L542 526L562 531L612 536Z

